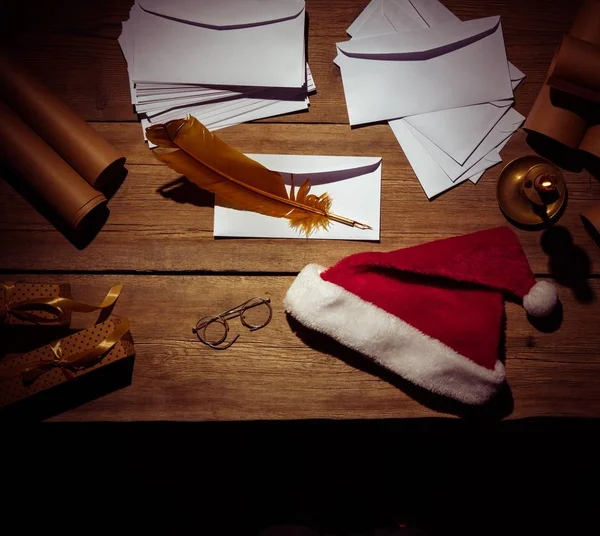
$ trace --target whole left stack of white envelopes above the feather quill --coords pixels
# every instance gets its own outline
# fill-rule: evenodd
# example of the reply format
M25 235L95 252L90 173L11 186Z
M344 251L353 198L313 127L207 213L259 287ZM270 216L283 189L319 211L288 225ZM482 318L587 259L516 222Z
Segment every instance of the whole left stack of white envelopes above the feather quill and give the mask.
M217 130L308 108L304 0L136 0L119 44L142 127Z

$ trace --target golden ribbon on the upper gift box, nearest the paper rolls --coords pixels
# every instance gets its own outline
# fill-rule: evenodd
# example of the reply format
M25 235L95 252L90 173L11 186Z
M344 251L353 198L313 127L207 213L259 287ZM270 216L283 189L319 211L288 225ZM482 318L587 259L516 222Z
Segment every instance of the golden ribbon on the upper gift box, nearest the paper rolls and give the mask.
M69 298L63 298L62 296L36 298L33 300L11 303L10 298L15 284L16 282L14 281L2 284L4 303L2 309L0 309L0 324L2 324L9 315L34 324L60 324L69 313L91 313L114 305L123 290L123 285L112 287L100 305L89 305ZM51 313L53 316L51 318L45 318L31 312L32 310L44 310Z

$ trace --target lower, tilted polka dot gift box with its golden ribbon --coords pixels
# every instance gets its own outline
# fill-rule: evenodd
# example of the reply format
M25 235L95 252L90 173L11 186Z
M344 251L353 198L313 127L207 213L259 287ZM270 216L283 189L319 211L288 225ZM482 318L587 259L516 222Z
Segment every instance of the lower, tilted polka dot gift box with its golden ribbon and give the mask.
M77 383L82 376L134 354L129 321L111 316L52 344L4 359L0 361L0 408Z

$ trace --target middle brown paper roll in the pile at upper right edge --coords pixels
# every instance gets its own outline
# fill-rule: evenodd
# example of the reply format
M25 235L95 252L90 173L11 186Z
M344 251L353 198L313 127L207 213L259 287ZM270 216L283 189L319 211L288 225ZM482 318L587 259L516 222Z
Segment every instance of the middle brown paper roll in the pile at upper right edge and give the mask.
M548 85L582 99L600 102L600 47L565 35Z

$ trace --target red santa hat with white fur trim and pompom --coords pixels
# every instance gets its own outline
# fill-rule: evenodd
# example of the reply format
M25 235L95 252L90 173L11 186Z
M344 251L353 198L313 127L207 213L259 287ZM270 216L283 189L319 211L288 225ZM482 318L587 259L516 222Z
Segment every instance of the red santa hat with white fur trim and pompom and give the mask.
M389 253L359 253L325 269L309 264L285 309L308 328L403 378L467 404L488 401L505 380L498 359L504 297L535 317L558 302L536 282L507 227Z

